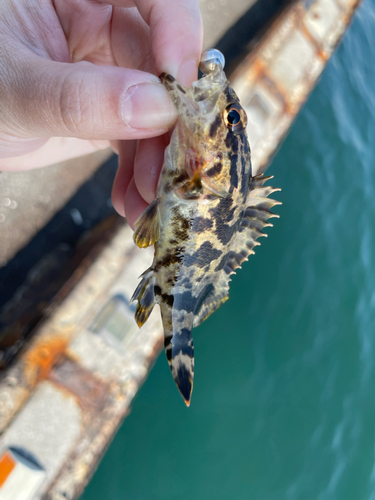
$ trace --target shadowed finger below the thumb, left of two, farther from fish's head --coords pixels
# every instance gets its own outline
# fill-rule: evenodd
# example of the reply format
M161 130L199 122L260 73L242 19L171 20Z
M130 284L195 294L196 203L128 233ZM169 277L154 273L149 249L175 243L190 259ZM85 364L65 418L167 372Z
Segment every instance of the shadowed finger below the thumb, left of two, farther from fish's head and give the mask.
M119 141L118 170L112 188L112 204L114 209L125 217L125 195L133 177L134 157L137 151L137 141Z

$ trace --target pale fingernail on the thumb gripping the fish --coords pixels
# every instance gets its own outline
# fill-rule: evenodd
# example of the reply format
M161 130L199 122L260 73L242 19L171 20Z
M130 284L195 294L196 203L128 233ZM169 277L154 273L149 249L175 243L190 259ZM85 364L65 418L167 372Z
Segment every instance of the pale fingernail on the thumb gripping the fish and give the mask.
M168 129L176 121L176 109L161 83L133 85L121 101L121 118L131 128Z

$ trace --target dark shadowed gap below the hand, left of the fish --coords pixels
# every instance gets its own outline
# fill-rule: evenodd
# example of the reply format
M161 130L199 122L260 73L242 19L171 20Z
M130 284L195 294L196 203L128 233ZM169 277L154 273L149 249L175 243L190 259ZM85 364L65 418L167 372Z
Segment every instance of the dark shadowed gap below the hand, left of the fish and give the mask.
M70 278L76 269L84 272L125 223L111 203L116 170L117 157L112 156L0 269L0 369L74 286Z

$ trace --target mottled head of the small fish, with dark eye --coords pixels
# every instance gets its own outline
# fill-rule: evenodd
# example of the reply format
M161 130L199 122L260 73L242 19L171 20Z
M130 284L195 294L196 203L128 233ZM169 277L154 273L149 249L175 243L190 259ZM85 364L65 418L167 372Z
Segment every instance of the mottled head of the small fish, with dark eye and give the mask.
M230 192L233 156L240 145L245 145L242 149L250 161L247 117L223 63L218 61L209 70L205 64L204 68L207 73L190 88L170 75L160 76L179 116L171 138L171 161L177 171L187 173L189 183L182 186L185 195L200 189L201 196L222 197Z

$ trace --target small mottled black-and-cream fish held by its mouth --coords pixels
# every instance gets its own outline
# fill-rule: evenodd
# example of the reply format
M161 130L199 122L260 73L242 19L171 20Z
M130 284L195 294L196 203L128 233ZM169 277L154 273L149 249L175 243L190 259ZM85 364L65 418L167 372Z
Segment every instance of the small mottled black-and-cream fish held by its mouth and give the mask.
M254 253L272 226L272 177L252 175L246 112L216 49L202 55L203 76L190 88L163 73L160 80L178 119L156 191L135 222L134 242L154 245L151 267L131 301L141 327L159 304L164 349L175 383L190 405L194 378L192 329L228 299L230 276Z

